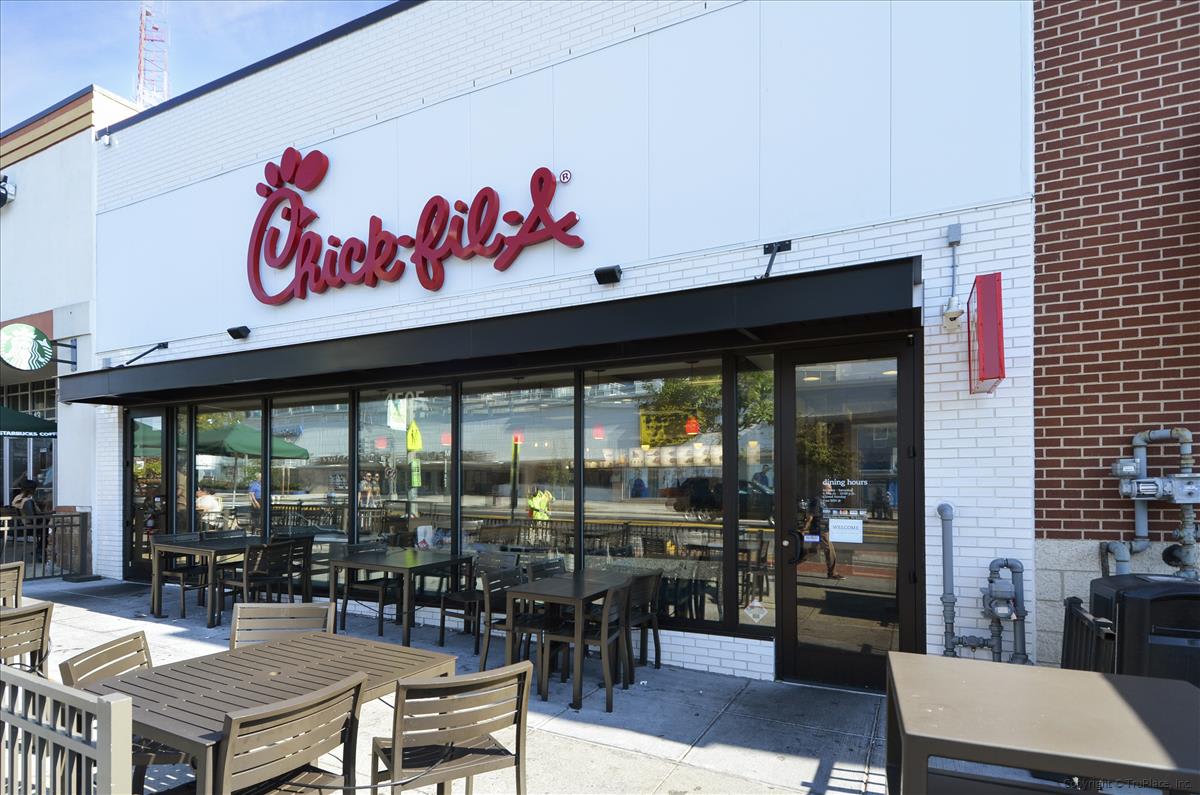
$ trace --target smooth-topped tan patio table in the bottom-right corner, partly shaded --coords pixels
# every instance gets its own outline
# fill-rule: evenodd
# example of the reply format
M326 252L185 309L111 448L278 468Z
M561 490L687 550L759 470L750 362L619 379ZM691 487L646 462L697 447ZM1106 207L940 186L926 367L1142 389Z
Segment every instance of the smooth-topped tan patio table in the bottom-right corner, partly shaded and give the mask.
M930 791L929 757L1200 791L1181 680L890 652L887 709L893 793Z

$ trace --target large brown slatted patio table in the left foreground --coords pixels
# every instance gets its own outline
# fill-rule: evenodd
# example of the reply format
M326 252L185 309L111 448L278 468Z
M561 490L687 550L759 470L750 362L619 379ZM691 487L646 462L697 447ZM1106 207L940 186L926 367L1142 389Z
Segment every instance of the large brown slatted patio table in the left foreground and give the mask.
M395 692L414 676L452 676L440 652L347 635L313 633L107 679L85 689L133 697L133 733L196 758L196 791L212 791L212 765L228 712L312 693L346 676L367 675L364 699Z

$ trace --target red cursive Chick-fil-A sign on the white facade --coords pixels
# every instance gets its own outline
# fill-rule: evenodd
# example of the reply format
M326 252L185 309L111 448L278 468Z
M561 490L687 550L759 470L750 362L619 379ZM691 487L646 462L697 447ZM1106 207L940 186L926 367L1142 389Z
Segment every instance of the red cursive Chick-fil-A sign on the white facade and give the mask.
M550 209L557 187L554 174L539 168L529 180L532 209L528 213L509 210L500 215L500 197L494 189L484 187L470 204L462 199L449 202L434 196L425 203L413 234L394 234L383 228L383 221L372 215L367 222L366 240L330 234L322 239L308 229L317 219L305 207L302 192L320 185L329 171L329 157L312 150L304 157L292 147L283 151L278 163L266 163L264 183L258 184L263 207L250 233L246 255L246 276L254 298L264 304L286 304L293 298L304 299L308 293L324 293L347 285L376 287L379 282L398 280L408 263L416 271L421 287L442 288L445 282L445 262L450 257L470 259L476 255L492 259L497 270L508 270L521 252L546 240L558 240L578 249L583 238L570 229L580 219L575 213L556 219ZM276 213L281 221L275 226ZM503 219L515 227L512 232L497 232ZM398 259L401 249L412 250L406 263ZM276 270L292 268L292 281L277 293L263 286L263 265Z

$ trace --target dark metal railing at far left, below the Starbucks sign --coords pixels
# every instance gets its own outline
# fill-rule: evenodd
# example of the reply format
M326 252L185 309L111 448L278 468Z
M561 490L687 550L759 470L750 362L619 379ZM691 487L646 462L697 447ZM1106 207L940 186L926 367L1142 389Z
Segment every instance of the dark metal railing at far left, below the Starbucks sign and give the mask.
M25 579L91 574L89 514L0 516L0 563L22 561Z

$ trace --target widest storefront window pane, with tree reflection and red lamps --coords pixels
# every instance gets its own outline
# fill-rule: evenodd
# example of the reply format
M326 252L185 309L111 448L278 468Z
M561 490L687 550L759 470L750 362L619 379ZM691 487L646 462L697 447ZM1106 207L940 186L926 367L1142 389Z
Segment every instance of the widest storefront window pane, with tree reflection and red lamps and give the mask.
M661 572L665 615L720 620L720 361L588 371L583 418L588 567Z

